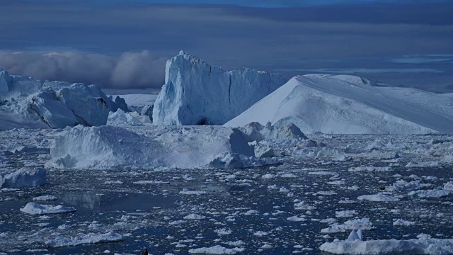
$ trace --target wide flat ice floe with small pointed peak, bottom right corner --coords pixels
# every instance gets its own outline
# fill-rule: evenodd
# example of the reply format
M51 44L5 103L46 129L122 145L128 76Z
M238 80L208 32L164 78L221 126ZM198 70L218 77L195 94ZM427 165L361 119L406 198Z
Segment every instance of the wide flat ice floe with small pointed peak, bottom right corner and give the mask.
M353 230L352 232L354 232ZM345 241L336 239L319 247L331 254L453 254L453 239L420 238L409 240L383 239L362 241L355 233Z

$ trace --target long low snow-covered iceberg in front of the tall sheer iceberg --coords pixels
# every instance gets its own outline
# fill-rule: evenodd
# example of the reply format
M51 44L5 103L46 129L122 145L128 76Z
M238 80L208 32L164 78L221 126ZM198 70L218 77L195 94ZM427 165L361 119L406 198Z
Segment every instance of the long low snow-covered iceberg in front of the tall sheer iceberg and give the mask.
M254 158L243 132L220 126L79 125L57 136L50 154L49 166L75 169L241 168L265 163Z

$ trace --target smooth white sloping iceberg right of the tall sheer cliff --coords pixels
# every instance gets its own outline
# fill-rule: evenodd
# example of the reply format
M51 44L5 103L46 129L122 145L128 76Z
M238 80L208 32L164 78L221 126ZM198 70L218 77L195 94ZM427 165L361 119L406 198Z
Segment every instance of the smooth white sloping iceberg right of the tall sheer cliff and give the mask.
M302 132L423 134L453 132L453 99L418 89L372 86L348 75L308 74L279 89L230 120L289 123Z

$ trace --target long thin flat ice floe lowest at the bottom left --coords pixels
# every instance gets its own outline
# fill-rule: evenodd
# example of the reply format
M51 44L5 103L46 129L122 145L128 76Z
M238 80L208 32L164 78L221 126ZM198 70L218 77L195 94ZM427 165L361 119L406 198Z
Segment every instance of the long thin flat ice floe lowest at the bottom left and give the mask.
M53 240L45 242L50 247L62 246L75 246L80 244L98 244L105 242L118 242L121 241L122 235L115 232L108 232L105 234L81 234L78 237L57 237Z

